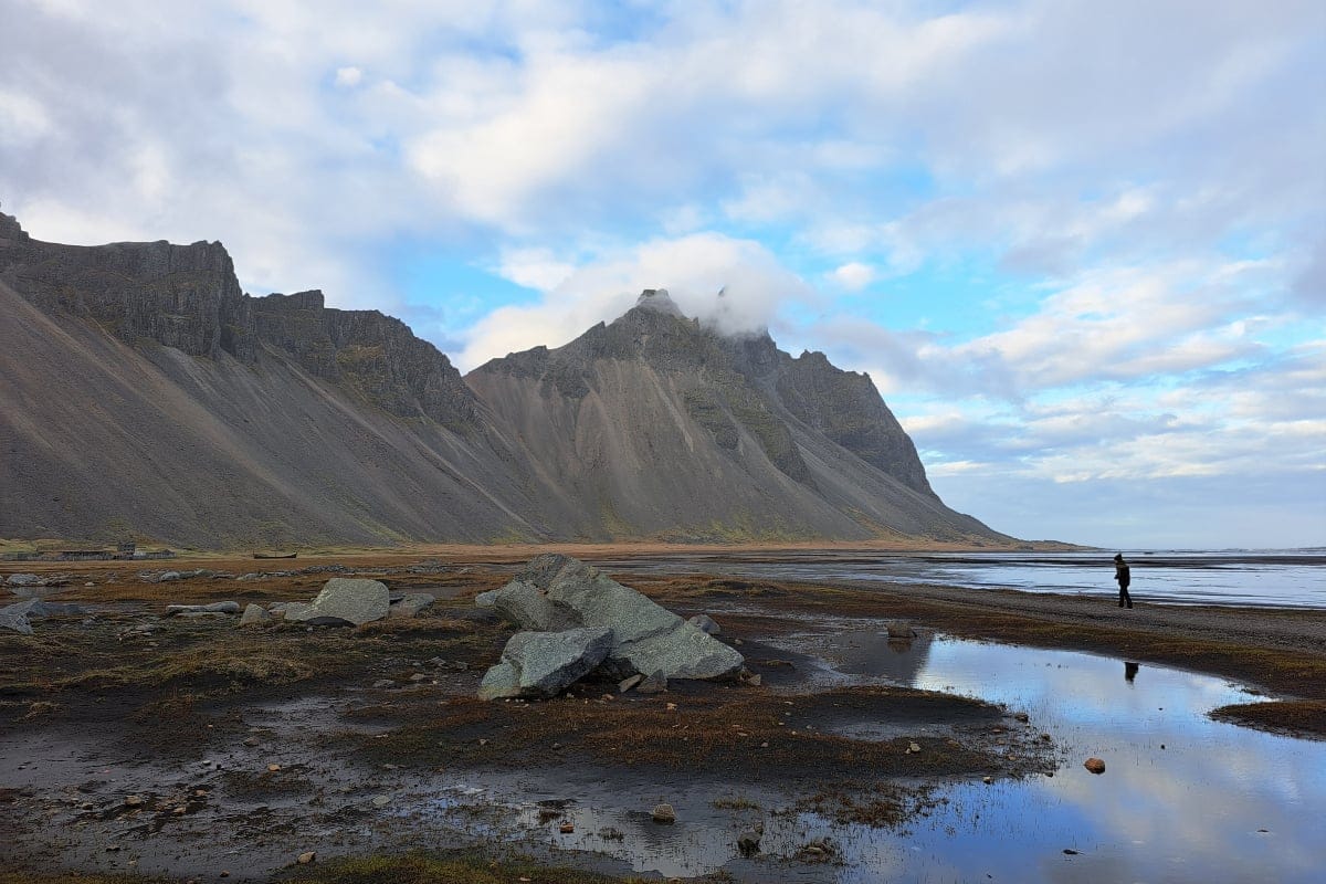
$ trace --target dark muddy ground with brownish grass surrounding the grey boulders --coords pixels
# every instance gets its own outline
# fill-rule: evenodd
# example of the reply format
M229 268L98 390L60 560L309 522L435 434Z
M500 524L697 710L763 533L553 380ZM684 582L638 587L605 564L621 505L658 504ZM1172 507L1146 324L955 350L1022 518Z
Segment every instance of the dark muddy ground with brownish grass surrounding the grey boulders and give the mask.
M174 602L308 599L329 565L439 600L357 630L160 618ZM141 577L192 567L217 574ZM293 573L235 579L284 567ZM1242 612L1231 626L1229 611L1139 607L1120 620L1105 603L1058 596L704 577L622 579L679 614L712 614L758 687L638 696L590 683L548 702L484 704L475 689L512 628L472 599L513 569L399 555L7 563L0 577L68 575L42 591L89 612L0 635L0 865L268 880L310 873L297 864L310 851L328 873L334 857L416 851L410 861L427 864L459 848L475 872L455 880L521 868L496 879L520 880L540 864L623 875L615 857L631 843L679 867L688 854L719 856L716 880L830 880L834 846L798 830L798 811L906 827L939 783L1062 762L1016 709L843 677L814 639L899 616L1238 677L1293 702L1224 714L1326 733L1321 614ZM890 728L863 726L878 721ZM655 823L659 802L683 824ZM701 819L728 832L723 843L695 843L684 822ZM741 856L737 838L756 826L761 850ZM512 855L536 865L489 864Z

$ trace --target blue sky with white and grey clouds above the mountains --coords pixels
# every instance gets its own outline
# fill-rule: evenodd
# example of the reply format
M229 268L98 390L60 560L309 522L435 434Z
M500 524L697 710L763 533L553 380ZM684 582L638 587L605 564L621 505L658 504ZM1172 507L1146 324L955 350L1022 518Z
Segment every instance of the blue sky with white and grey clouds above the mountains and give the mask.
M869 372L952 508L1326 545L1326 4L0 0L0 208L468 371L643 288ZM725 288L723 311L716 293Z

